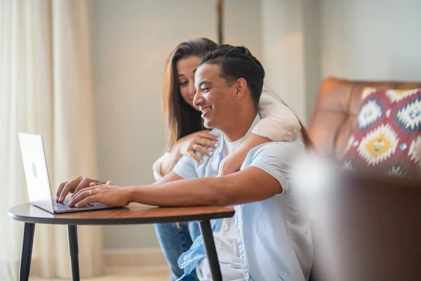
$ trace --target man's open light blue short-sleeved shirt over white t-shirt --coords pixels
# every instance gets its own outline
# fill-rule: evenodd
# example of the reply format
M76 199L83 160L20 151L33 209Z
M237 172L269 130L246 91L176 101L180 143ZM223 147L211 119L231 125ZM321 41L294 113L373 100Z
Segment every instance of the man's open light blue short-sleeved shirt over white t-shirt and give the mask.
M246 136L259 121L260 115ZM213 157L200 155L203 163L182 157L173 169L176 174L182 178L218 176L224 141L220 131L214 129L210 133L220 136L220 145L213 149ZM290 187L293 181L291 159L302 153L304 145L298 140L265 143L250 150L241 166L241 170L255 166L266 171L283 189L282 194L267 200L234 206L236 238L247 281L308 280L313 261L310 221L302 202L304 195ZM220 230L221 222L211 221L213 231ZM189 275L205 256L203 238L199 236L178 263L185 275Z

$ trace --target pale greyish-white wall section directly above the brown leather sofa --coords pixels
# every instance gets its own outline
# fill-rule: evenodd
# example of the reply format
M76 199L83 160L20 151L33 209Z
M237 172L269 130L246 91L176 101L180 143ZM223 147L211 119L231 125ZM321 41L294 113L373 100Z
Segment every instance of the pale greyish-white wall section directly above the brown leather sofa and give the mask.
M323 77L421 80L421 1L321 1Z

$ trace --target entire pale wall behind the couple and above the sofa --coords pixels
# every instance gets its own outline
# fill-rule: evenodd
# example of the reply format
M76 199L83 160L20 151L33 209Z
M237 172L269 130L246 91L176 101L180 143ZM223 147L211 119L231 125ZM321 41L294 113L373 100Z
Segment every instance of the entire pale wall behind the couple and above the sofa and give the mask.
M216 1L94 0L100 176L152 183L165 145L163 61L180 41L217 39ZM229 0L225 42L262 61L265 83L307 123L321 78L421 77L421 1ZM156 247L152 226L113 226L105 248Z

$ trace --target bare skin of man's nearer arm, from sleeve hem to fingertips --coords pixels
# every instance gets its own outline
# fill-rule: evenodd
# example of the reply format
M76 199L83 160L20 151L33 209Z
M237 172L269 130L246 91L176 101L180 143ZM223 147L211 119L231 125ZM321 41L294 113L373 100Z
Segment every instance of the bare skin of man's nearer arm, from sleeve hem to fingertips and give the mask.
M152 185L93 186L78 192L69 206L94 202L109 206L126 206L130 202L161 207L230 206L265 200L282 192L276 178L255 166L218 178L180 179L171 172Z

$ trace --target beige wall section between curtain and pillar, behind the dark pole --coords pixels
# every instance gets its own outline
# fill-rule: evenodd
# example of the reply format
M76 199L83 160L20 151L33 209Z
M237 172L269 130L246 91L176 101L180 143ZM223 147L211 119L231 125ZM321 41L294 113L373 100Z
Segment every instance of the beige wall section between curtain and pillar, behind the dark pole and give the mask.
M93 6L96 133L100 178L152 183L164 150L163 63L181 41L217 40L216 1L95 0ZM225 42L261 52L260 2L229 0ZM153 226L108 226L105 249L157 247Z

